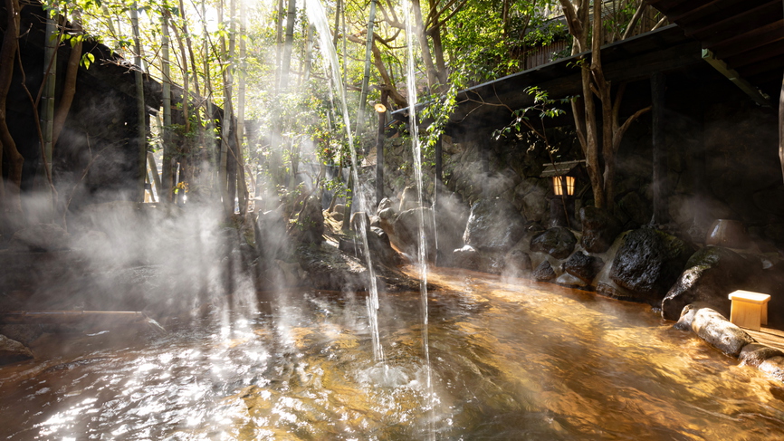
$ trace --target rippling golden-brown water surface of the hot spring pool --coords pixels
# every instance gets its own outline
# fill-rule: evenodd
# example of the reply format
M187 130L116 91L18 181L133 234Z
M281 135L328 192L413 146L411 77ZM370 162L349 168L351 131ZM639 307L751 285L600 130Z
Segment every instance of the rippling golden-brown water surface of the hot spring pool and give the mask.
M435 399L426 397L418 292L381 298L384 364L373 358L363 298L305 292L231 331L206 321L122 349L0 369L0 437L425 439L429 427L436 438L465 440L784 433L776 382L672 330L647 306L476 273L437 270L430 280L439 286L430 292Z

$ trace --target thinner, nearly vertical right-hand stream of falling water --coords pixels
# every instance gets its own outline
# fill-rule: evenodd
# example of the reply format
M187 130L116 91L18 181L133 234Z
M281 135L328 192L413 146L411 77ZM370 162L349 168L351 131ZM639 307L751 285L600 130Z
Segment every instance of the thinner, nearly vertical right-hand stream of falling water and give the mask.
M406 89L408 90L408 127L411 130L411 149L414 156L414 176L416 177L416 194L419 201L419 206L423 206L422 197L422 149L419 146L419 127L416 125L416 75L414 72L414 32L411 26L411 4L408 0L403 2L403 10L406 20L406 46L408 46L408 59L406 63ZM428 311L427 311L427 261L425 256L425 214L420 209L418 210L419 216L419 292L422 299L422 349L425 352L425 367L427 372L426 390L428 397L428 406L430 411L435 410L435 396L433 393L433 382L431 379L431 366L430 366L430 337L427 330L428 327ZM434 418L429 419L430 430L428 430L428 437L433 439L435 431L433 430Z

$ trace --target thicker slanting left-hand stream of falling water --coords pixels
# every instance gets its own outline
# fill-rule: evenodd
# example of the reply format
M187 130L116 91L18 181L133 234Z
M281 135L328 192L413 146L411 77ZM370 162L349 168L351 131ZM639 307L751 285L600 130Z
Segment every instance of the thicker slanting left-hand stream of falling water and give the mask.
M335 52L335 47L332 46L330 41L330 27L327 23L327 14L324 11L324 6L321 5L320 0L307 0L307 13L311 23L316 26L317 34L319 34L319 47L322 56L330 63L332 85L338 91L338 98L340 110L343 112L343 120L346 123L346 135L349 139L349 151L351 152L351 175L354 178L355 185L359 186L359 176L357 173L357 152L354 151L354 138L351 135L351 123L349 121L349 108L346 105L346 89L343 87L343 81L340 76L340 65L338 62L338 53ZM361 192L356 192L353 197L356 198L359 206L365 206L364 196ZM349 222L349 219L344 219L343 222ZM373 355L377 361L384 360L384 350L381 347L381 339L378 335L378 286L376 283L376 274L373 271L373 264L370 259L370 249L368 247L368 225L365 225L365 217L359 216L359 237L362 239L362 249L368 260L368 274L370 277L370 295L368 297L368 317L370 321L370 331L373 334Z

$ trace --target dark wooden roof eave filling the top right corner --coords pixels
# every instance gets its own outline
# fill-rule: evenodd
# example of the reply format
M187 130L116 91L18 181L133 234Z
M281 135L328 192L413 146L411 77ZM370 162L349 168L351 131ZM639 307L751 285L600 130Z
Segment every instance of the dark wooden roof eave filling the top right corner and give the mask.
M781 0L649 0L686 36L752 86L778 96L784 70Z

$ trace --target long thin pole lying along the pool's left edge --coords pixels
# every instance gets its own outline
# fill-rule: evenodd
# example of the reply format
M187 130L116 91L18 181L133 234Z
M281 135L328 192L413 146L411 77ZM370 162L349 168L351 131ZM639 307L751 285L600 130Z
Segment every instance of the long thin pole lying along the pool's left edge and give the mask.
M158 321L140 311L7 311L0 312L0 324L122 324L143 322L158 333L166 330Z

